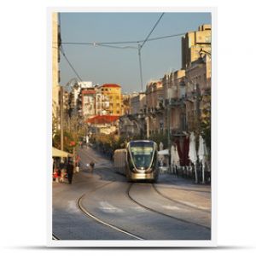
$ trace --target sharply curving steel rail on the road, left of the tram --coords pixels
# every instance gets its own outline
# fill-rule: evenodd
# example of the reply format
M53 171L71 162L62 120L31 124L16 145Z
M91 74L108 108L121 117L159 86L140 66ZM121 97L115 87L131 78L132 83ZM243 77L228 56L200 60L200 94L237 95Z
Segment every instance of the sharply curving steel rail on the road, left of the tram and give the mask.
M89 195L91 195L92 193L95 193L98 189L102 189L103 187L105 187L105 186L107 186L107 185L109 185L109 184L111 184L111 183L114 183L114 182L110 182L110 183L105 183L105 184L103 184L102 186L100 186L100 187L98 187L98 188L96 188L96 189L90 191ZM86 201L86 197L87 197L87 196L88 196L88 195L86 195L86 193L85 193L84 195L80 196L79 201L78 201L79 210L80 210L81 212L83 212L84 215L86 215L87 217L92 218L93 220L95 220L95 221L96 221L97 223L99 223L99 224L103 224L103 225L105 225L105 226L108 226L108 228L111 228L111 229L113 229L113 230L119 231L119 232L121 232L121 233L123 233L123 234L125 234L125 235L127 235L127 236L131 236L132 238L135 238L135 239L137 239L137 240L144 240L143 237L137 236L137 235L135 235L135 234L129 232L128 230L119 228L119 227L116 226L116 225L109 224L109 223L107 223L106 221L102 220L101 218L96 217L94 214L92 214L91 212L89 212L85 207L82 206L82 203L81 203L82 200L83 200L83 201L84 201L84 200Z

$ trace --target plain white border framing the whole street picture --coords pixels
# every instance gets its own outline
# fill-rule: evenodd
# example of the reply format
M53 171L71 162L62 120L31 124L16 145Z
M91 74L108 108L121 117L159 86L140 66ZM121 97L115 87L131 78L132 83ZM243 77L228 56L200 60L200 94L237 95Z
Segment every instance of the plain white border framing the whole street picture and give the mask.
M212 239L198 240L52 240L52 188L51 175L47 172L47 246L49 247L217 247L217 7L49 7L47 8L47 169L51 170L51 111L52 111L52 17L53 12L208 12L212 14ZM49 65L50 63L50 65Z

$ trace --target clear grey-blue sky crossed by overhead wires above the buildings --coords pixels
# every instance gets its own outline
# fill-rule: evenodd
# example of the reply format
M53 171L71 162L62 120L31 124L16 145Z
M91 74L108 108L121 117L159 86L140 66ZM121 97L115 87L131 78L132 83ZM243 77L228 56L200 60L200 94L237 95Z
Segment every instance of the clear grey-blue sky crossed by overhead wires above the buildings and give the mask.
M123 93L141 91L137 43L111 44L113 48L65 43L106 43L145 40L162 13L61 13L61 41L68 61L83 81L119 84ZM198 30L211 24L210 13L165 13L149 38ZM141 50L143 90L151 79L181 68L181 37L147 41ZM141 43L143 44L143 43ZM61 85L76 73L61 55Z

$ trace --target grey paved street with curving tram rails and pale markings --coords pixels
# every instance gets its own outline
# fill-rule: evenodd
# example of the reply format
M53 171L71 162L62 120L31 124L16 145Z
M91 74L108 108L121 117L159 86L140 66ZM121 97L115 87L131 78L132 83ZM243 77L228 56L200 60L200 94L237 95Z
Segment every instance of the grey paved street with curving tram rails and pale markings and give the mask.
M211 187L161 174L127 183L92 148L79 150L73 183L53 183L53 233L61 240L210 240ZM95 172L86 163L96 163Z

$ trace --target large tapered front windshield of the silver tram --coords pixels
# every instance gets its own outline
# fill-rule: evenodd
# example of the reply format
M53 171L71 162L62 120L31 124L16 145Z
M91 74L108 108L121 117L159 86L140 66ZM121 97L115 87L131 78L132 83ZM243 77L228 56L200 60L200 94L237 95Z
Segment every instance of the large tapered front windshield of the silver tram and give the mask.
M131 157L136 168L148 169L153 153L154 143L152 142L131 142Z

